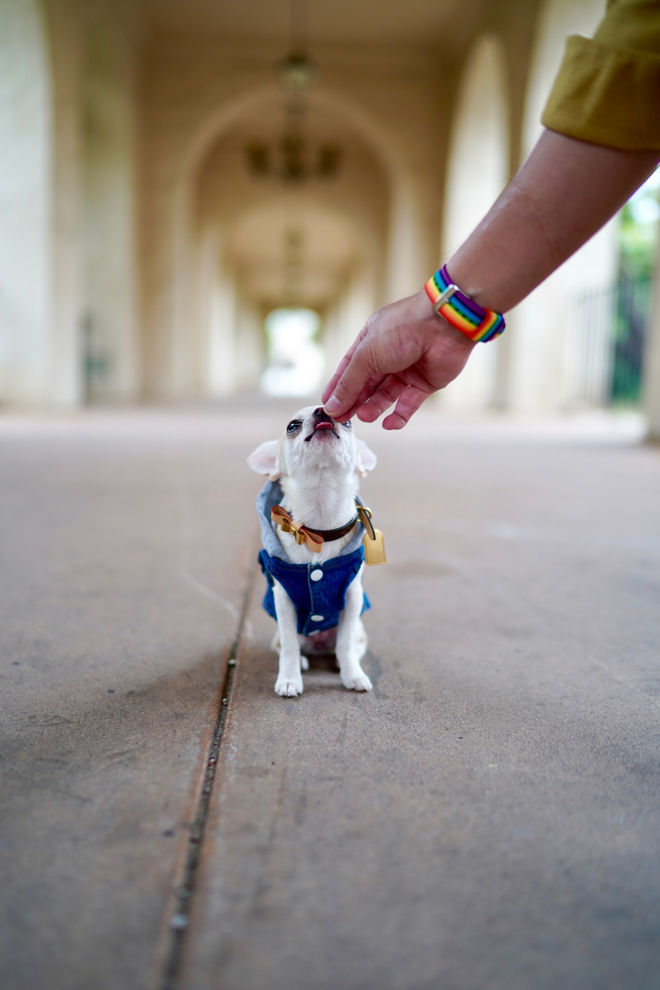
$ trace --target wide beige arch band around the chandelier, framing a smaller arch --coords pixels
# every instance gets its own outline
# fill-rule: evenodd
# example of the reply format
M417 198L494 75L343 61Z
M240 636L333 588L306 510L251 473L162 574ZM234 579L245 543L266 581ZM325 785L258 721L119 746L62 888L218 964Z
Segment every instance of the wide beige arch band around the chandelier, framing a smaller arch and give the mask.
M262 361L259 347L248 348L251 356L247 362L254 364L251 373L246 373L246 360L233 361L229 351L228 363L233 361L235 368L232 374L218 373L216 368L209 379L204 366L210 312L214 313L216 340L221 312L225 314L222 319L230 319L231 313L232 320L242 322L244 334L262 334L267 301L263 295L257 298L254 292L246 293L245 286L241 288L234 278L235 265L232 267L231 259L227 263L232 226L248 210L259 207L268 212L276 209L277 203L288 203L295 210L297 203L303 212L320 211L321 217L328 210L334 211L338 222L352 224L354 244L349 253L353 260L344 259L335 290L316 301L326 317L329 367L334 367L370 312L385 301L385 291L409 291L421 276L419 252L412 247L418 239L405 168L380 129L333 94L314 93L309 98L308 117L312 135L318 136L324 129L341 135L345 162L336 185L319 180L306 183L304 188L284 189L272 179L261 183L248 179L241 159L242 143L251 128L253 133L255 129L260 133L260 126L276 117L280 106L281 94L264 88L223 108L213 126L207 121L191 143L175 203L172 379L178 395L204 394L211 381L211 391L227 391L231 390L232 377L244 386L251 375L253 382L258 377ZM391 271L399 284L390 284ZM276 299L270 303L278 304Z

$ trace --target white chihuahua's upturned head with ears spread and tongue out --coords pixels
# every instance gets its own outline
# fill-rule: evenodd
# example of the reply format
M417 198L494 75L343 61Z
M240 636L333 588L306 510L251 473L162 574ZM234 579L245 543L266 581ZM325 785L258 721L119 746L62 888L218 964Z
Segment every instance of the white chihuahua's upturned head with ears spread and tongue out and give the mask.
M339 423L322 406L306 406L289 420L282 437L258 446L248 457L258 474L272 481L285 476L302 480L320 471L338 477L364 477L376 467L376 454L353 436L351 421Z

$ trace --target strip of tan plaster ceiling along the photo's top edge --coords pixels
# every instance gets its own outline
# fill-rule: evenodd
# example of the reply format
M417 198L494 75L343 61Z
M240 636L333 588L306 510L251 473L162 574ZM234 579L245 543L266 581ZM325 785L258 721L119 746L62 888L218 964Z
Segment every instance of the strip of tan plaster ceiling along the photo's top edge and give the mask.
M289 0L143 0L158 31L212 32L285 46ZM493 2L493 0L491 0ZM425 45L450 18L469 19L477 0L309 0L309 45Z

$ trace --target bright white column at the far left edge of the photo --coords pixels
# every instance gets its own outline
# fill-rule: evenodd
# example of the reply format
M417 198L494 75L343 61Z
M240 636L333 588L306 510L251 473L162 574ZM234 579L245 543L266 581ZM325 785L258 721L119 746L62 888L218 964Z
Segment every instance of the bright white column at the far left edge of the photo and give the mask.
M51 79L33 0L0 0L0 402L47 400Z

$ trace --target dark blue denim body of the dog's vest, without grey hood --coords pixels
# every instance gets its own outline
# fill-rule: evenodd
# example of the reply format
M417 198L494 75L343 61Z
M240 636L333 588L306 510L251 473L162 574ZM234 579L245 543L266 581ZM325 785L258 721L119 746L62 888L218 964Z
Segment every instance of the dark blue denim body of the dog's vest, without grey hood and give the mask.
M273 596L275 578L295 606L298 633L310 636L324 629L333 629L339 623L339 613L346 605L348 586L362 567L364 559L364 546L359 546L352 553L324 560L322 564L289 563L271 556L266 550L260 550L259 562L269 583L264 608L270 616L277 618ZM310 575L314 570L323 571L323 577L318 581L311 579ZM364 595L362 611L369 608L369 599ZM322 616L322 619L313 620L312 616Z

